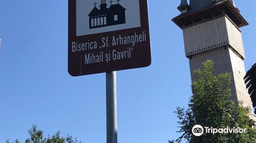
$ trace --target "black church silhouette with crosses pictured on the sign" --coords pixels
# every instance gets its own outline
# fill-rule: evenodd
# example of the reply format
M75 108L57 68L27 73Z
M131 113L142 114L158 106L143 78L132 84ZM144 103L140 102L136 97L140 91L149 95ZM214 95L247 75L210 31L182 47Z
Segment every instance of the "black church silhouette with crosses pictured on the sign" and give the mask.
M117 0L117 4L113 5L113 1L110 0L111 5L107 8L106 1L101 0L100 9L96 7L97 3L94 3L94 8L88 15L90 29L125 23L126 9L119 4L119 1L121 0Z

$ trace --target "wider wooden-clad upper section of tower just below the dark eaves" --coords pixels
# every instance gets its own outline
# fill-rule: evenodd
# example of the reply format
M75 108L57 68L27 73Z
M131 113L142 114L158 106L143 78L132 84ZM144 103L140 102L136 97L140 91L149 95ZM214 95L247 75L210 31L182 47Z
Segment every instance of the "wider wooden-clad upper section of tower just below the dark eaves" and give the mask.
M229 44L245 58L241 31L226 16L185 28L183 36L186 57Z

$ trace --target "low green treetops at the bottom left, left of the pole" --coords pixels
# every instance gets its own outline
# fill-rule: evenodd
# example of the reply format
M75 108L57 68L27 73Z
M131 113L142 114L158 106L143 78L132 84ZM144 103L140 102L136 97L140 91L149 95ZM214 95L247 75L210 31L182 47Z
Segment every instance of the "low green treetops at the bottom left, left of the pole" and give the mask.
M52 136L48 135L48 137L44 137L44 132L38 130L36 125L34 125L32 129L28 130L28 133L30 138L27 138L25 143L78 143L77 139L70 135L68 135L66 138L61 137L59 131ZM9 139L6 140L6 143L10 143ZM18 139L16 139L15 143L20 142Z

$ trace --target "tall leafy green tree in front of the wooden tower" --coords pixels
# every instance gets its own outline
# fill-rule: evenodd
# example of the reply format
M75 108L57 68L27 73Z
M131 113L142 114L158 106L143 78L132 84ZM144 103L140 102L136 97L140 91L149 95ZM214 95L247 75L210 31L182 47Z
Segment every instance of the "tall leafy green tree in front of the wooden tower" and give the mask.
M255 123L248 117L248 109L242 103L234 103L231 97L231 75L213 74L214 63L207 60L194 71L196 81L192 83L193 96L190 98L188 108L177 107L175 111L179 122L181 136L169 143L181 142L256 142ZM246 133L204 133L197 137L192 133L195 125L213 128L245 128Z

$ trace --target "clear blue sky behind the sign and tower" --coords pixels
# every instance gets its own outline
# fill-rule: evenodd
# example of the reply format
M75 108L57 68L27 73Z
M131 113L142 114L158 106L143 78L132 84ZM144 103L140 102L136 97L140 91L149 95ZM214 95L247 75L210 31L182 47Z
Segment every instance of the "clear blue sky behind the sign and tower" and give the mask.
M256 62L255 1L235 1L245 68ZM182 31L172 22L180 1L148 1L152 65L117 71L118 142L177 138L177 106L191 96ZM0 0L0 142L24 141L37 125L83 143L105 142L105 74L68 74L68 1Z

